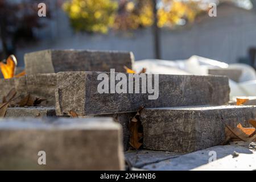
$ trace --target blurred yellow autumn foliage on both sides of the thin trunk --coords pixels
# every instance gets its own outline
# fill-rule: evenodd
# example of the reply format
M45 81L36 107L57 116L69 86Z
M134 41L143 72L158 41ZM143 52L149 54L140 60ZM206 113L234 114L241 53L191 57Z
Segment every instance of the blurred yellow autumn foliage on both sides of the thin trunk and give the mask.
M106 33L110 27L135 30L151 26L154 23L152 1L71 0L65 2L63 7L75 30ZM193 0L157 1L158 27L175 27L193 22L202 11L200 5L201 1Z

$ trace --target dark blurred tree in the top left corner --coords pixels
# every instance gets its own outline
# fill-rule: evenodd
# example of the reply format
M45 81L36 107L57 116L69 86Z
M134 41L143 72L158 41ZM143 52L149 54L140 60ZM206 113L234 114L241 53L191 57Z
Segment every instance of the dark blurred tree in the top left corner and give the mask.
M18 43L35 40L32 29L44 26L38 16L39 3L40 0L0 0L1 59L14 54ZM48 11L47 16L49 17Z

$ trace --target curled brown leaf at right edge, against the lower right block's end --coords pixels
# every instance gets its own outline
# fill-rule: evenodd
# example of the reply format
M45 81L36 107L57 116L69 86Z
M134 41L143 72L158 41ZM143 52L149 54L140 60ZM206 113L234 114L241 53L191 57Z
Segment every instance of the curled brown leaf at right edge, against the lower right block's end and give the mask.
M241 130L238 127L233 128L226 125L225 131L226 131L226 142L228 142L228 140L242 140L244 142L252 142L256 139L256 135L253 135L253 137L250 137L249 135L243 132L245 130Z

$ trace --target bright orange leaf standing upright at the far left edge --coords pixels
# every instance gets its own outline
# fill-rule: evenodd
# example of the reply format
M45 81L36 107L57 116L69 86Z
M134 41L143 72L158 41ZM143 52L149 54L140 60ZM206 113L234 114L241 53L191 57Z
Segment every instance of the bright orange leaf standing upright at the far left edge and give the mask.
M5 79L14 77L14 71L15 71L16 65L17 65L17 61L14 55L11 55L7 58L6 64L3 62L0 62L0 69Z

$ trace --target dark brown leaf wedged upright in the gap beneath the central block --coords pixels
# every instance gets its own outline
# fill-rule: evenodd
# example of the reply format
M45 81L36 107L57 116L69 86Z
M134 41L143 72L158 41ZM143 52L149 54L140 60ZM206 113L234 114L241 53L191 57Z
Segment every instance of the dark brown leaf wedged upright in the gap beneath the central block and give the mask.
M142 111L143 107L140 107L137 113L133 118L130 120L129 130L130 130L130 145L135 148L139 149L142 146L141 140L143 138L143 132L141 131L141 121L139 121L139 115Z

